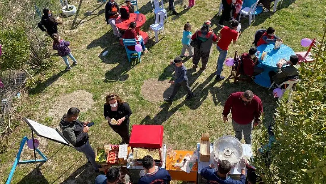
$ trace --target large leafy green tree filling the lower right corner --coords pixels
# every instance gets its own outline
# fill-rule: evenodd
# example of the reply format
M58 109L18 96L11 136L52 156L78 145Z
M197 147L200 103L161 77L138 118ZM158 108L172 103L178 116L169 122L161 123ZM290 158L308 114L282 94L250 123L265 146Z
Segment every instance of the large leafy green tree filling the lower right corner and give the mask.
M323 28L313 48L315 61L301 63L302 81L292 100L276 109L275 142L262 148L264 154L256 151L252 164L265 183L326 183L326 24ZM265 127L256 137L255 148L270 138Z

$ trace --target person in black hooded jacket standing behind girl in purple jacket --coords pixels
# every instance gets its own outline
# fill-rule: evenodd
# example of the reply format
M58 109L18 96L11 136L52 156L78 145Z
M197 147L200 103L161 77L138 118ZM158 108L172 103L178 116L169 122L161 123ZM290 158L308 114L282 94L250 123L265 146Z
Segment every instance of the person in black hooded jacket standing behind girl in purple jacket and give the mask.
M58 31L58 23L55 22L55 18L53 17L51 11L48 8L43 9L43 14L44 15L42 16L41 21L37 24L37 26L42 31L47 31L49 36L52 37L52 34Z

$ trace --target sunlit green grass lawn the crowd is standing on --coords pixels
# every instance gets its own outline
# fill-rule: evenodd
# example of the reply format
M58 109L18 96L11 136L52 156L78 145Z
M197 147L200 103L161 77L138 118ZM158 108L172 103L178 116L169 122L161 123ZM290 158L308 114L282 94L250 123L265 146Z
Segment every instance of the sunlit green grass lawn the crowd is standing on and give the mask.
M122 2L124 1L119 0L118 4ZM175 1L179 15L168 12L168 23L164 25L166 37L163 38L163 34L159 35L158 43L155 42L155 38L150 38L146 44L149 52L141 57L141 63L135 61L128 63L124 47L113 36L111 26L105 23L105 4L91 0L70 3L75 5L78 11L76 16L69 18L69 21L64 19L66 40L71 41L70 48L78 60L78 65L69 72L63 72L66 66L63 60L58 58L55 66L40 76L40 81L31 85L22 95L22 100L18 102L17 117L26 116L44 125L58 127L62 114L55 114L53 111L65 112L68 107L77 106L84 109L80 116L81 120L95 122L89 133L90 143L94 149L105 143L121 141L102 115L104 97L112 91L117 92L129 103L133 111L131 125L163 125L164 143L174 149L194 150L201 133L210 133L212 141L224 134L234 135L230 123L222 122L224 102L232 92L253 91L263 102L264 123L272 121L277 104L269 96L267 89L253 82L233 83L233 79L214 81L218 57L215 44L212 46L208 68L205 71L193 72L192 59L185 62L189 84L195 93L192 100L185 101L186 92L183 90L179 91L177 100L172 105L164 103L163 96L158 96L160 101L149 101L146 100L148 97L141 93L141 87L147 79L153 79L151 81L171 79L173 68L168 64L171 59L180 55L182 30L186 22L192 24L193 33L205 20L212 21L215 33L220 30L216 26L219 20L219 16L216 15L219 1L196 0L196 6L191 9L183 9L184 5L188 5L188 1ZM168 1L164 1L164 5L167 8ZM325 5L326 1L317 3L313 0L284 0L282 7L278 5L276 12L256 16L256 21L251 26L248 26L248 17L242 17L243 33L236 44L230 45L228 57L233 57L236 50L239 53L247 52L255 31L270 26L276 29L276 34L295 52L306 50L300 46L300 40L318 37L318 33L321 32L320 25L324 21ZM154 23L150 1L139 0L138 7L147 19L142 30L149 33L149 25ZM59 33L64 38L62 26L60 29ZM107 50L109 54L103 57L102 53ZM222 75L229 76L230 68L224 66ZM73 93L77 90L82 90L82 93ZM156 88L145 90L153 96L158 91L165 91ZM20 123L9 137L8 152L2 154L0 158L1 183L7 179L22 137L27 135L31 138L30 129L23 121ZM83 154L55 142L45 139L40 141L40 150L50 159L40 164L38 169L35 169L35 164L18 166L12 183L94 182L97 175ZM32 158L32 151L26 149L22 159Z

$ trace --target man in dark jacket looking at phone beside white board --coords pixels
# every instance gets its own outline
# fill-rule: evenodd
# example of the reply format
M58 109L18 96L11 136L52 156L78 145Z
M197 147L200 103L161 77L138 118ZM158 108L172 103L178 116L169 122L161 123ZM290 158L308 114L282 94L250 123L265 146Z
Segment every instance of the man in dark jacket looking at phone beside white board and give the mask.
M88 142L90 122L81 122L78 120L80 110L72 107L67 114L63 115L60 121L60 128L65 138L74 146L74 148L85 154L87 160L92 164L95 172L101 168L95 162L95 152ZM94 125L94 122L92 122ZM87 126L88 125L88 126Z

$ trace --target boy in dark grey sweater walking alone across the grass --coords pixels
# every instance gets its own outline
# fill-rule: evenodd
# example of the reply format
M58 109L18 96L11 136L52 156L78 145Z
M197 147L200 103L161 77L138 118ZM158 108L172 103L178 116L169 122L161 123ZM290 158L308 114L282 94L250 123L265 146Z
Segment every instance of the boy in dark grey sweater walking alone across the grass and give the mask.
M188 92L188 96L185 99L190 100L194 94L191 92L191 89L188 86L188 78L186 75L187 68L183 64L182 58L178 56L174 59L174 62L170 61L170 64L175 66L175 72L174 72L175 80L170 80L169 82L171 84L174 84L174 88L171 96L169 98L164 98L164 101L172 102L180 86L182 86Z

